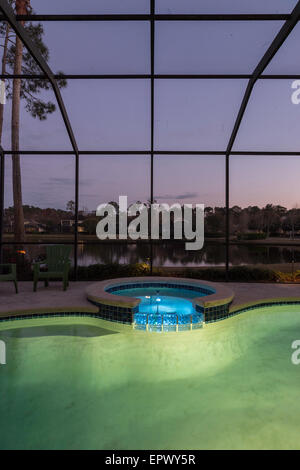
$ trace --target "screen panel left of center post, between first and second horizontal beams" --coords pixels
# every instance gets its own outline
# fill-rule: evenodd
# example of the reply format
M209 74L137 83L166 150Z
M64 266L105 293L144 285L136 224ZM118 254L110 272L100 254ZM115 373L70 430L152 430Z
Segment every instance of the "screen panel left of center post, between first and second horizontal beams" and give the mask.
M42 22L53 72L150 72L150 23L140 21Z

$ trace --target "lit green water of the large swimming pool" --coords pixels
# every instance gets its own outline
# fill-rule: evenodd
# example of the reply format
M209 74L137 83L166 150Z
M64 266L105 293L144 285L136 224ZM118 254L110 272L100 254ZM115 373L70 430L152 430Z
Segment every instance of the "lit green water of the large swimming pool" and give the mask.
M1 449L300 448L299 306L180 334L82 321L0 327Z

